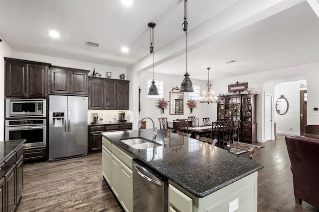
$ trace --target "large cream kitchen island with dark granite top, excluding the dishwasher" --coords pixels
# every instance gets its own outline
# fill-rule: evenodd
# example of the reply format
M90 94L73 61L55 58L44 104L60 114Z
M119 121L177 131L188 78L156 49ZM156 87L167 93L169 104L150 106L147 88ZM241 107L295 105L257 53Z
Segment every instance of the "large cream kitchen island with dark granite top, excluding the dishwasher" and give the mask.
M138 158L168 178L170 211L228 211L229 207L233 207L233 211L237 207L236 212L257 211L257 171L262 164L208 143L160 130L156 142L161 145L156 148L135 149L121 142L138 137L152 141L152 133L152 129L103 133L102 172L113 191L112 181L116 177L112 169L113 155L120 158L118 162L122 170L126 168L128 176L132 171L131 160ZM109 162L103 159L105 152L111 157ZM124 180L117 178L121 179ZM130 195L122 195L122 199L121 192L114 193L123 208L132 211L133 203L122 204L130 200Z

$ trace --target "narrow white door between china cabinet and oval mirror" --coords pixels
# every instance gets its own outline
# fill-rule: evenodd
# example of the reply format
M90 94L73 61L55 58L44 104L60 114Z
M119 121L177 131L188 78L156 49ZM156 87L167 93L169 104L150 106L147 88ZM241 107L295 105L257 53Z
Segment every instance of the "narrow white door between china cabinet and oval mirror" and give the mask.
M272 94L265 93L265 141L272 140L272 99Z

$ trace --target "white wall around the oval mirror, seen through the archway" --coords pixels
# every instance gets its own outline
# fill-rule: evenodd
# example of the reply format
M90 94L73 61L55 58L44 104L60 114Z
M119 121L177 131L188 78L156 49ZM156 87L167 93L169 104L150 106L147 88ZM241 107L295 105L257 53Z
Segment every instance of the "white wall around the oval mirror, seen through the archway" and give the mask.
M282 82L275 86L274 90L274 122L276 122L276 133L284 135L300 135L300 84L307 84L306 80ZM284 95L288 100L289 108L286 114L280 115L276 112L276 101Z

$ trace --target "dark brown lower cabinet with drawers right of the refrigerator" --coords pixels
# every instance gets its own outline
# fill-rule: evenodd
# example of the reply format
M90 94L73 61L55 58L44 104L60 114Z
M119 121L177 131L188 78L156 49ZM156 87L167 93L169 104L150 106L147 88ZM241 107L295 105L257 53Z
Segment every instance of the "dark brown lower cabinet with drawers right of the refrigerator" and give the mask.
M102 134L104 132L132 130L132 123L98 124L88 126L88 153L102 150Z

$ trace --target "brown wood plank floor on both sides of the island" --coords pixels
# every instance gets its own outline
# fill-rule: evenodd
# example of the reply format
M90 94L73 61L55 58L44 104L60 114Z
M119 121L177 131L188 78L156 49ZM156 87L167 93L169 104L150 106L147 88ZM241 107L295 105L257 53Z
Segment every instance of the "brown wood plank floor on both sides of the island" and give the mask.
M258 212L319 212L305 202L295 203L284 136L256 144L265 146L256 158L265 166L258 172ZM23 171L24 190L18 212L122 211L102 179L101 153L25 164Z

